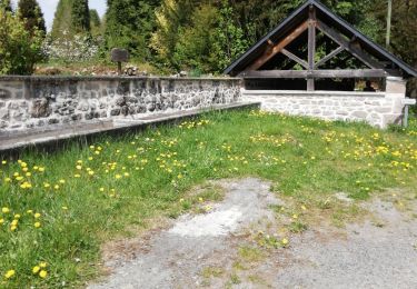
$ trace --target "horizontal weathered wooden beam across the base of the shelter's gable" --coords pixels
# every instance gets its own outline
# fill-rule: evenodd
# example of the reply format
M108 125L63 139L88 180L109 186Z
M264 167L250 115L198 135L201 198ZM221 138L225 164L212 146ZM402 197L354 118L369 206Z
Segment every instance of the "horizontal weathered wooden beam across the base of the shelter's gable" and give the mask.
M383 69L342 69L342 70L258 70L245 71L242 78L384 78L387 72Z

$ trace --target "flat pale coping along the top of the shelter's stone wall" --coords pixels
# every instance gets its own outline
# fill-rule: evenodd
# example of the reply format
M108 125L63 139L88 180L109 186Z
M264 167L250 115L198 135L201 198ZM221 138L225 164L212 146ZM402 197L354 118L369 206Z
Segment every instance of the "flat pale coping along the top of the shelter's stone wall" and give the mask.
M330 90L241 90L242 94L255 94L255 96L327 96L327 97L375 97L385 98L386 92L364 92L364 91L330 91Z

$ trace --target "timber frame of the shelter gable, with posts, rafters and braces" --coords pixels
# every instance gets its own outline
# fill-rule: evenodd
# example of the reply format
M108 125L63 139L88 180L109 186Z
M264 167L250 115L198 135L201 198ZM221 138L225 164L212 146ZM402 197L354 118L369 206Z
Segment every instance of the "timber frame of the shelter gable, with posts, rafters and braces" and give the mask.
M335 50L318 61L315 59L317 30L338 44ZM305 31L308 33L307 61L287 49ZM342 51L349 52L367 69L319 69ZM304 70L262 70L262 67L278 53L295 61ZM309 91L315 90L315 79L317 78L417 77L417 71L414 68L366 38L317 0L308 0L298 8L276 29L231 63L225 73L247 79L301 78L307 80L307 90Z

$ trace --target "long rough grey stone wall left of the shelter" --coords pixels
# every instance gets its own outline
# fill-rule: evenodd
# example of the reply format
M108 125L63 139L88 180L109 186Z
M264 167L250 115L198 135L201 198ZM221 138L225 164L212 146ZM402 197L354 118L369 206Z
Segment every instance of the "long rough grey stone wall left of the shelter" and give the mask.
M240 79L0 77L0 133L234 103Z

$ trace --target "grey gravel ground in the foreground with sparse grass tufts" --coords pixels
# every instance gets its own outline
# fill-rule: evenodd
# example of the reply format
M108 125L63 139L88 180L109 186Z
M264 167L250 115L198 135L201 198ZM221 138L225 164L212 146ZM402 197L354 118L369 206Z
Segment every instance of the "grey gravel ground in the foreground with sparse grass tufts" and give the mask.
M129 241L130 258L113 255L112 273L90 288L417 288L415 200L403 211L390 201L364 203L371 211L364 222L289 235L277 229L286 217L272 208L284 201L270 183L217 185L224 201Z

